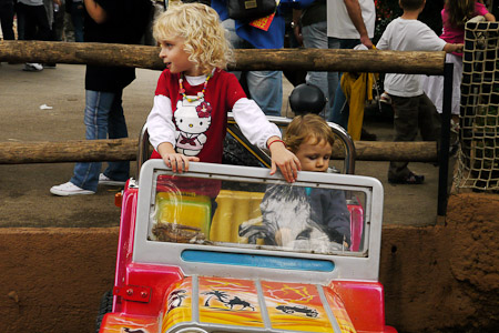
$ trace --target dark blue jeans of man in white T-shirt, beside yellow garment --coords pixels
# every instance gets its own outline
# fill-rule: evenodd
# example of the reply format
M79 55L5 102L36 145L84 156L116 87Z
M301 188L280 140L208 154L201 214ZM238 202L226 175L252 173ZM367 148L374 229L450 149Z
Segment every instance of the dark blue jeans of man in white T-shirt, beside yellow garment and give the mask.
M360 41L358 39L328 38L329 49L353 49L359 43ZM348 130L348 117L350 110L345 93L342 90L342 84L339 84L340 80L342 75L339 74L336 81L335 101L333 103L332 113L329 114L329 121Z

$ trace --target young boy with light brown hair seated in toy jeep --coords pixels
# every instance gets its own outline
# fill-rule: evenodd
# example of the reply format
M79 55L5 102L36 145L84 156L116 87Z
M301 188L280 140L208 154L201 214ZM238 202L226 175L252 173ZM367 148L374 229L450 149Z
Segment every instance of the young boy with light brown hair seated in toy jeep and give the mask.
M284 142L296 154L303 171L326 172L335 142L327 122L317 114L297 115ZM350 245L350 214L344 191L273 185L261 203L263 224L284 248L317 252Z

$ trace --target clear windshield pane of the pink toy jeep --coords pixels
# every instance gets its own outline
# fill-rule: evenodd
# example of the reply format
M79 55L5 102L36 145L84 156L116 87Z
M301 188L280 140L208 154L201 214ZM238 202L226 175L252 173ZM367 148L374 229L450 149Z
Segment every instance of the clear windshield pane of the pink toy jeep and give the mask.
M364 215L350 216L349 209L363 212L363 192L183 175L160 175L155 189L152 241L325 254L361 250L353 241L361 239Z

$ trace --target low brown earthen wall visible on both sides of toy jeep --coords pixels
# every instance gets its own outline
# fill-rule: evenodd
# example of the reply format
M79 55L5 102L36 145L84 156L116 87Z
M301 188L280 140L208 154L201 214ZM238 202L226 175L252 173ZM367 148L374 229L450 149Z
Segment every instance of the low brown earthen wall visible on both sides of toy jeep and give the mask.
M499 331L498 211L498 195L452 195L446 225L384 228L388 324ZM116 244L118 228L0 229L0 332L92 332Z

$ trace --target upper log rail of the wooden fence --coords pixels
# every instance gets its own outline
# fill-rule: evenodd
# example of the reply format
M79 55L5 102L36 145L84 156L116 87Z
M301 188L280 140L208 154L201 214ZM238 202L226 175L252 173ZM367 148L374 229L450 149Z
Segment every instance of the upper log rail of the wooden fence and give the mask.
M231 70L444 73L445 52L319 49L234 50ZM159 47L47 41L2 41L0 61L89 63L162 70Z

